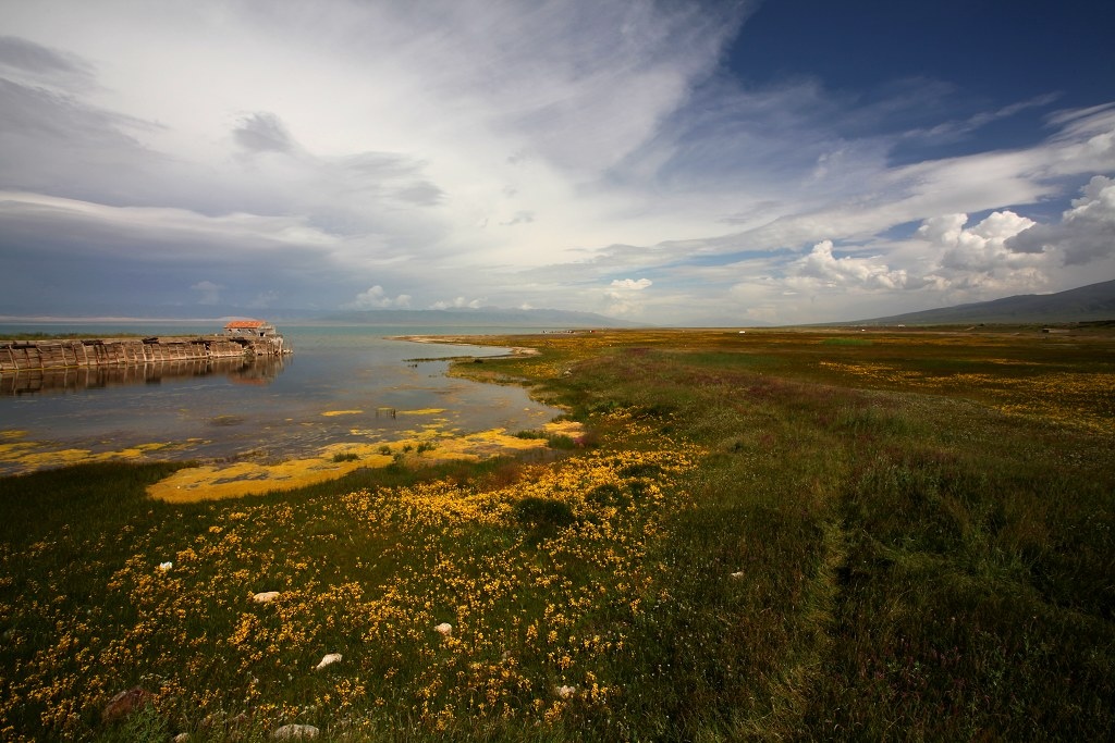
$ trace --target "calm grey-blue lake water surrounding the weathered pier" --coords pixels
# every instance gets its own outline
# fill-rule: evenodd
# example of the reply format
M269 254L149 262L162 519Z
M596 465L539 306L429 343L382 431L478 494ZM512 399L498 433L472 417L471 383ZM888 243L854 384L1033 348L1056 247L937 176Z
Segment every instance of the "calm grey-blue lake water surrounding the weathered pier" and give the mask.
M163 323L0 325L0 338L20 332L110 336L215 331ZM280 332L294 353L245 369L184 364L107 375L83 370L72 372L64 388L33 392L10 377L0 380L0 475L29 469L31 444L48 466L50 452L57 452L55 463L62 463L83 450L97 454L153 442L175 446L157 452L158 458L287 458L331 443L389 442L423 428L462 433L532 429L561 412L533 402L521 388L448 378L448 361L429 361L501 355L506 349L385 338L473 332L467 329L292 325Z

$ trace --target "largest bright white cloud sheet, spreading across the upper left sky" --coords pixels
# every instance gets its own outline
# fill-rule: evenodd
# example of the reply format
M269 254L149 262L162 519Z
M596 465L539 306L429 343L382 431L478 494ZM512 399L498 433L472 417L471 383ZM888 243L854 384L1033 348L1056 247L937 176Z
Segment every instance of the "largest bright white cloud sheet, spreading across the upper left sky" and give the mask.
M655 136L715 69L743 14L586 0L421 10L339 1L312 13L45 0L10 21L33 35L62 11L81 32L55 25L51 38L75 59L99 61L100 86L75 100L98 111L90 120L116 133L125 117L168 125L90 155L31 148L22 169L41 174L59 159L54 180L85 193L205 214L304 215L359 236L334 253L355 264L366 263L370 239L473 265L546 263L623 233L653 234L613 222L615 194L578 189ZM205 52L190 38L206 38ZM96 167L123 157L126 141L148 150L129 155L134 172ZM145 173L152 163L161 173ZM516 229L460 228L485 221Z

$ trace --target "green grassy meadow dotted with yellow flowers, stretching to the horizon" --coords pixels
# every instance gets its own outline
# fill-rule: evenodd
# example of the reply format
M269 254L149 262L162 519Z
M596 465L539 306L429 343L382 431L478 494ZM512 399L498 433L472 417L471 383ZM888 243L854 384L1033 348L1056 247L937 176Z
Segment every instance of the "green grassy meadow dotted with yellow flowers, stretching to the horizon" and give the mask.
M0 479L0 737L1115 730L1111 335L468 340L588 432L185 505L175 465Z

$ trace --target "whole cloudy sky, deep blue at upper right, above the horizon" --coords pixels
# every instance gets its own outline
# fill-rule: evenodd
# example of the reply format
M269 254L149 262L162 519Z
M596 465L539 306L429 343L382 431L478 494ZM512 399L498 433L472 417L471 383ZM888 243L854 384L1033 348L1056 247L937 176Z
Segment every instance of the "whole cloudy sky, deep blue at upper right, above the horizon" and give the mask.
M0 0L0 315L821 323L1115 278L1109 0Z

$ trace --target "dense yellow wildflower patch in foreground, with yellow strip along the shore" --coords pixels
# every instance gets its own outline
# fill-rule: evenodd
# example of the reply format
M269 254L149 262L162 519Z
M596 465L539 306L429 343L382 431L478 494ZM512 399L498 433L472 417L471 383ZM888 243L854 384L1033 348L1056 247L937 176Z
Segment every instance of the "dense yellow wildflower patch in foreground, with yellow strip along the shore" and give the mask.
M611 426L626 423L637 421L609 416ZM579 433L568 423L553 430ZM194 718L249 706L275 724L343 715L369 734L385 706L414 710L418 724L437 730L476 716L556 725L574 706L607 705L622 693L603 677L629 630L601 617L634 616L662 600L648 551L662 516L685 502L676 478L702 456L665 437L657 444L523 465L514 481L489 489L438 480L242 502L211 511L188 537L167 538L162 528L107 535L132 556L112 571L94 614L13 605L17 624L51 636L12 677L0 727L33 701L50 710L45 730L80 737L83 711L103 706L134 667L147 674L156 704ZM192 500L295 487L390 461L379 446L190 468L152 495ZM545 440L492 430L436 446L421 457ZM333 462L338 453L360 459ZM526 499L563 504L574 520L532 534L518 510ZM100 551L85 548L90 559ZM271 600L253 600L271 592ZM107 622L106 613L120 616ZM444 625L452 632L439 632ZM342 661L316 668L329 654Z

